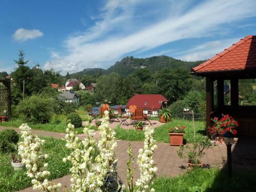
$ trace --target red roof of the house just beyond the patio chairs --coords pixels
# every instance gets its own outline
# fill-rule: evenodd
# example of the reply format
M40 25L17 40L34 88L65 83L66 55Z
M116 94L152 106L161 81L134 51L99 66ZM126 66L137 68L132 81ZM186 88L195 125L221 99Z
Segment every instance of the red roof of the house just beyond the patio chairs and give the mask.
M161 102L168 101L164 96L159 94L137 94L134 95L126 104L129 108L130 105L136 105L138 108L154 108L160 109Z

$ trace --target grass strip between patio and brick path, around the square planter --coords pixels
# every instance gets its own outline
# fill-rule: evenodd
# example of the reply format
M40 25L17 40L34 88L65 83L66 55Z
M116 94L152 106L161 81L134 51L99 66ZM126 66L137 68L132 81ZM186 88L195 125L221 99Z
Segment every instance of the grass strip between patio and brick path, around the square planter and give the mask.
M185 119L172 119L169 123L165 123L154 130L154 139L158 142L168 143L170 142L168 130L170 127L176 125L186 126L184 139L190 143L194 140L193 121ZM144 132L136 130L124 130L120 126L115 129L116 138L127 141L142 141L144 140ZM205 122L195 121L195 135L205 135Z

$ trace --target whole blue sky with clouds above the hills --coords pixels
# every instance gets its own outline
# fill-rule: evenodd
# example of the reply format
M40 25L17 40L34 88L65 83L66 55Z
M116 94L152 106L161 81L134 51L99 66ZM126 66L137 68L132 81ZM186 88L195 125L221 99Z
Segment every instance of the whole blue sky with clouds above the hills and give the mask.
M255 0L56 0L0 2L0 71L18 50L29 66L65 75L108 69L125 56L208 59L256 35Z

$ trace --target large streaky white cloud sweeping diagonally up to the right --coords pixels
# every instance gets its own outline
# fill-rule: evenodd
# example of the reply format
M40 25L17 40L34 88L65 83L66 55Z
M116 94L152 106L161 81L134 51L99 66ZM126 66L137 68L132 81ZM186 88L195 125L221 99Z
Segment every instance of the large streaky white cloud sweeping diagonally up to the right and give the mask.
M191 1L181 1L181 4L173 1L170 4L163 3L163 7L170 7L165 17L161 17L160 20L153 23L138 22L136 15L141 12L141 8L138 7L145 5L144 2L148 4L148 1L142 0L107 3L94 26L65 40L66 54L52 54L54 67L63 73L76 72L84 68L106 68L125 54L145 52L180 39L221 34L223 30L228 31L230 23L256 15L256 2L253 0L205 1L194 7L190 7ZM176 7L178 9L175 9ZM208 46L218 45L222 47L222 42L210 42ZM206 51L204 55L207 55ZM201 56L195 52L194 56L190 54L185 59L197 58ZM45 68L48 64L49 61Z

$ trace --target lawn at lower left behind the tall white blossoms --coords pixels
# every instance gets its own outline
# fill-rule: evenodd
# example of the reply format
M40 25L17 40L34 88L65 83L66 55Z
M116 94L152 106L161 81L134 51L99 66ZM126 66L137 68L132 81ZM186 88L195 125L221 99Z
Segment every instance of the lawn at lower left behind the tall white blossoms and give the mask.
M49 159L47 159L49 163L48 170L51 172L49 179L52 180L70 174L71 164L62 162L64 157L70 155L70 150L65 146L66 141L51 137L40 138L46 140L43 150L49 155ZM15 191L32 186L31 179L26 175L26 170L14 172L10 162L9 154L0 154L0 191Z

